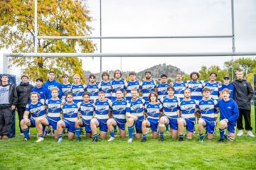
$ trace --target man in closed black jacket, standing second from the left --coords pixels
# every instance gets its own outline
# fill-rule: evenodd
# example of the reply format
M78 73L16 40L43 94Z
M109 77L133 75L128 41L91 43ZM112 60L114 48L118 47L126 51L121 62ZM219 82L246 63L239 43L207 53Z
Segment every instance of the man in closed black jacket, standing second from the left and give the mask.
M23 119L23 115L25 112L26 105L28 104L28 98L31 89L33 89L33 86L29 84L28 82L29 77L27 75L22 75L21 76L21 84L19 84L16 89L17 89L17 95L18 95L18 105L17 105L17 110L18 110L18 120L21 122ZM21 125L18 123L21 135L23 135L23 131L21 130Z

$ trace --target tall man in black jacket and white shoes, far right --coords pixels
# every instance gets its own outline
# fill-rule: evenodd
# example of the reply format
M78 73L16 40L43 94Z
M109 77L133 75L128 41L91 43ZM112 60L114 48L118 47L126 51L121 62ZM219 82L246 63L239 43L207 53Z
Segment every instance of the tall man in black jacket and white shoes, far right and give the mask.
M236 72L236 79L233 84L235 86L234 91L234 100L238 103L239 108L239 118L237 120L238 123L238 134L237 136L243 135L243 127L242 127L242 117L245 118L245 130L247 130L247 135L250 137L255 137L252 134L252 127L250 125L250 113L251 113L251 104L250 101L253 97L252 85L249 81L242 79L243 72L242 70L238 70Z

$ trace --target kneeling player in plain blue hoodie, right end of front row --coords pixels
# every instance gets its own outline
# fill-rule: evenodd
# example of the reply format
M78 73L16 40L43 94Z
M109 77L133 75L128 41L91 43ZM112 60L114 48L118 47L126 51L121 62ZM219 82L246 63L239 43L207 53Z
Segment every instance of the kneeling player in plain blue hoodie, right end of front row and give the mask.
M230 91L223 89L223 99L218 101L220 108L220 140L218 142L224 142L225 128L228 128L227 139L230 141L235 140L235 125L239 118L238 105L230 98Z

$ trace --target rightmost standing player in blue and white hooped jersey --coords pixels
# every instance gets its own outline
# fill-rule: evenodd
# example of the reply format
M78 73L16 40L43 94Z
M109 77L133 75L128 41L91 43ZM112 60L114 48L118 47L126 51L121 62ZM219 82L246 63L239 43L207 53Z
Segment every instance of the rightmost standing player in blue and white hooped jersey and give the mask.
M210 89L210 97L218 100L221 83L216 81L217 74L210 73L210 81L205 81L203 87Z

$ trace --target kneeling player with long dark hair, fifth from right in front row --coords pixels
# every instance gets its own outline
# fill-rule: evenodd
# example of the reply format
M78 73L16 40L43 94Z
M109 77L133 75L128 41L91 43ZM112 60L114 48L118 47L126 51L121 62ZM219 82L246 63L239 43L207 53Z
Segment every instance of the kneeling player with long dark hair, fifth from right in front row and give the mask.
M156 92L151 92L149 94L149 103L145 104L147 118L142 122L142 142L146 142L146 128L151 128L153 138L157 138L157 128L159 125L159 118L162 115L162 108L163 106L157 100Z

